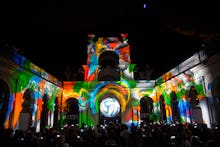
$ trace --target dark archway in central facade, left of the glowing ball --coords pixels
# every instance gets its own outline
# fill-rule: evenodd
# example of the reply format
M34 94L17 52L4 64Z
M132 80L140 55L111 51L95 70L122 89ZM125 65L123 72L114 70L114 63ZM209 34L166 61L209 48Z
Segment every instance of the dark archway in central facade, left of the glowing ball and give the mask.
M76 98L67 99L65 102L64 110L66 113L67 124L79 123L79 104Z

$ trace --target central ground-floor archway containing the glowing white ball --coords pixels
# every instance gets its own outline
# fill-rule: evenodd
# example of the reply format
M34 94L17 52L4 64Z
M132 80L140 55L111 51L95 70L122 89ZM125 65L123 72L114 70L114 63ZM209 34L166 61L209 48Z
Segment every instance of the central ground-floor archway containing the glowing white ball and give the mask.
M108 93L100 99L99 123L121 123L121 104L115 95Z

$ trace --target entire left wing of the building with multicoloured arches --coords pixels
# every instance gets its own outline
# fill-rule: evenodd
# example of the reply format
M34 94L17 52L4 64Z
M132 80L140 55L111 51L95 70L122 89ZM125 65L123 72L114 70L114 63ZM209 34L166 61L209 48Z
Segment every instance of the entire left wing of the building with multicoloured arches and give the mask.
M0 67L1 125L38 131L57 126L60 81L6 46L0 48Z

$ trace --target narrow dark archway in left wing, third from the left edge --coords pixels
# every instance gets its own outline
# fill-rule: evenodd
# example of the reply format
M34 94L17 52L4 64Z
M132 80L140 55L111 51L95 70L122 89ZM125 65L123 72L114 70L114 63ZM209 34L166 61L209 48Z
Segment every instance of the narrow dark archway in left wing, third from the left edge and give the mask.
M47 106L48 100L49 100L49 96L47 94L44 94L42 111L41 111L41 119L40 119L41 132L44 132L46 126L48 125L48 111L49 111L48 106Z

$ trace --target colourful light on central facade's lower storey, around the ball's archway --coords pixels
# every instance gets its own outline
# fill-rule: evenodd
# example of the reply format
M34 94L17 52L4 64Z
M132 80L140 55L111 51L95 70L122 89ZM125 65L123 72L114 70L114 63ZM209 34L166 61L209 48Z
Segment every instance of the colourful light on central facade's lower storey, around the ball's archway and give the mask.
M70 85L72 84L72 88ZM67 86L65 86L67 85ZM130 125L138 124L140 118L139 100L141 96L146 96L152 89L135 88L135 81L114 81L114 82L64 82L63 104L74 97L79 102L81 123L96 125L102 98L106 94L114 95L120 103L122 122ZM137 97L133 97L137 96ZM64 110L64 106L62 110Z

